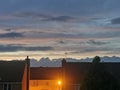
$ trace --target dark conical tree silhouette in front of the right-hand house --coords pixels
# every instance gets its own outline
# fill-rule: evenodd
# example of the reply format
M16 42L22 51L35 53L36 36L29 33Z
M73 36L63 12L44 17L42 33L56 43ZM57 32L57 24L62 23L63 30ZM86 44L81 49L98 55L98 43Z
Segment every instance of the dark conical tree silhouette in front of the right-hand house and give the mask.
M100 58L96 56L80 90L120 90L120 88L117 79L105 70L103 64L100 63Z

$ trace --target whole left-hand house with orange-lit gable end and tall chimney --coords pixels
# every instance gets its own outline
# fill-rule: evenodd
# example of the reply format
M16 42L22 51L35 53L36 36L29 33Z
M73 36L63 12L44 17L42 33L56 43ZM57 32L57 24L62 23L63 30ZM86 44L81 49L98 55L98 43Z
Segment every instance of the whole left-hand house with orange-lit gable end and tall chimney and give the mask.
M29 59L0 61L0 90L29 90Z

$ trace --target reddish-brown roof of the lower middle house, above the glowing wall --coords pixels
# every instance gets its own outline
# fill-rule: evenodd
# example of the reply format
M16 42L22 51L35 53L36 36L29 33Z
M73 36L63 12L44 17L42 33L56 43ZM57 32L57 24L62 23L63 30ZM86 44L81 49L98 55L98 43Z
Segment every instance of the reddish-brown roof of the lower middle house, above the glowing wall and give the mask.
M30 68L31 80L56 80L62 74L60 67L32 67Z

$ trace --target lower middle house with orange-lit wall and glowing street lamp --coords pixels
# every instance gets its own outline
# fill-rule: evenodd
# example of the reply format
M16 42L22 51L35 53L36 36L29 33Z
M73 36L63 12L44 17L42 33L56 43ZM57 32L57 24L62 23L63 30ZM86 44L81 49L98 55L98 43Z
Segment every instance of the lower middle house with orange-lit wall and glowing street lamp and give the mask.
M62 90L61 67L31 67L30 90Z

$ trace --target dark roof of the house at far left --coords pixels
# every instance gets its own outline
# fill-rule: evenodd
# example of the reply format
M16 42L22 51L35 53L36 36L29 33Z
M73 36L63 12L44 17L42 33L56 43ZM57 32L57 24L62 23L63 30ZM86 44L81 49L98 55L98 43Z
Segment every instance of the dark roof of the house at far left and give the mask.
M21 82L25 61L0 61L0 82Z

